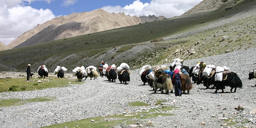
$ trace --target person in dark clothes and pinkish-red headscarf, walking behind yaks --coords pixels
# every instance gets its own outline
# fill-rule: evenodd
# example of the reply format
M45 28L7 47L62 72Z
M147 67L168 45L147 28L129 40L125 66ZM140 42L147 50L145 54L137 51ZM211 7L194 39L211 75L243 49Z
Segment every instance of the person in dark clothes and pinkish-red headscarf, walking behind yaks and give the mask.
M173 75L175 96L181 96L182 93L180 79L181 75L179 74L179 69L177 68L175 69Z

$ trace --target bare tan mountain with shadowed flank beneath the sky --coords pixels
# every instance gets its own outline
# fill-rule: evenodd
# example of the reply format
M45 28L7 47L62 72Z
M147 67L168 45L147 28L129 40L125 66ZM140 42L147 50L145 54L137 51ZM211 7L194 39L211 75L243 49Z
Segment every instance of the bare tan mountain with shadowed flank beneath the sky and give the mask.
M154 20L162 20L164 18L166 17L156 17L155 15L137 17L125 15L124 13L108 13L102 9L92 12L75 12L37 25L35 28L23 33L8 44L8 46L11 48L23 47L114 28L132 26Z

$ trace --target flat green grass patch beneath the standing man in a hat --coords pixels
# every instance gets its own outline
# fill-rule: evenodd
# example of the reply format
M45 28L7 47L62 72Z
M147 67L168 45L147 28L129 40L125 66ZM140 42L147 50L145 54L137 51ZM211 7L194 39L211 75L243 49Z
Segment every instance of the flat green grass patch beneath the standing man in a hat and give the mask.
M53 78L48 77L46 79L50 79L50 81L43 81L42 83L37 83L37 80L41 80L38 78L30 78L31 80L25 82L26 78L0 78L0 92L7 92L7 91L31 91L31 90L42 90L45 88L54 88L54 87L66 87L68 83L71 84L82 84L83 82L74 82L73 79L66 79L66 78Z

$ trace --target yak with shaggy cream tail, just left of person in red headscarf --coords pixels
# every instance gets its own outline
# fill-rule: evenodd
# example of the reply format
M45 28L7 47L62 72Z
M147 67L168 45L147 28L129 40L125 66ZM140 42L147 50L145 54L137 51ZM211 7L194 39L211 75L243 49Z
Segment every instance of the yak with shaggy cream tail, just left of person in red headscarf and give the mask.
M165 94L168 94L169 90L173 90L171 76L166 73L162 73L157 80L153 81L153 87L155 88L155 93L158 88L161 88L161 94L164 93L163 90L165 90Z

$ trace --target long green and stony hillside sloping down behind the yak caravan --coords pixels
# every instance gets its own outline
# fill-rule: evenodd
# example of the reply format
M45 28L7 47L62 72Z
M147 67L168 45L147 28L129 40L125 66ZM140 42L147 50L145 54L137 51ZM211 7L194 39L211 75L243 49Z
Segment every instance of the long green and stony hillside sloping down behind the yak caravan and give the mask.
M204 5L207 3L212 1L203 1ZM0 70L23 71L30 63L32 72L41 64L50 72L58 65L71 72L84 64L97 67L100 61L116 66L125 62L137 69L147 64L172 63L174 58L190 60L255 48L256 1L228 0L221 5L164 20L0 51ZM241 60L235 56L223 59ZM232 64L227 67L232 68Z

